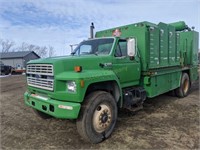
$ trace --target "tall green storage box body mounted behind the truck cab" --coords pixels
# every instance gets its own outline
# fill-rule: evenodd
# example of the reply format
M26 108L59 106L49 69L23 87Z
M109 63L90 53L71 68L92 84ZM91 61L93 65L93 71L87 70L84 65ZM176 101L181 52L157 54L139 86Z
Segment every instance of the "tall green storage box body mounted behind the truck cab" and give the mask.
M184 21L139 22L99 31L95 37L110 37L116 29L121 38L137 39L143 72L197 64L198 33L190 31Z

